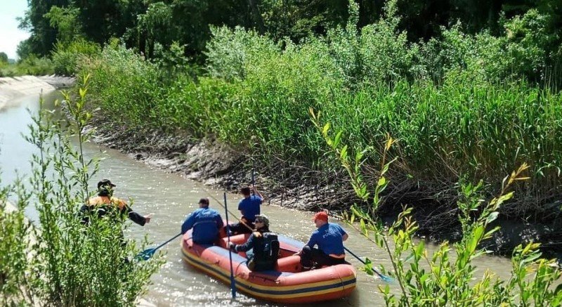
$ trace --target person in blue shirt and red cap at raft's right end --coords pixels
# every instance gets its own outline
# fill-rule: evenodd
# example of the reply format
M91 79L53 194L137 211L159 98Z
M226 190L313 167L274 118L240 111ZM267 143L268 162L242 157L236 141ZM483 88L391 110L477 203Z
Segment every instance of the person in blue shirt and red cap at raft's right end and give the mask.
M313 231L303 249L296 253L301 256L303 269L310 270L313 263L316 263L316 268L346 263L344 253L344 241L348 238L346 230L336 223L328 223L328 214L325 211L315 214L313 221L318 229ZM318 245L318 248L315 248L315 245Z

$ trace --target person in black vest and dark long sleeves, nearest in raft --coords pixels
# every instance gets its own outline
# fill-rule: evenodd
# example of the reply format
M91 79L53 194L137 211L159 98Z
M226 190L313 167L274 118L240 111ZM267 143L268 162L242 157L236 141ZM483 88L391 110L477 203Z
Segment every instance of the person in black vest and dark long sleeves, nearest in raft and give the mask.
M269 231L269 218L265 214L256 215L254 223L256 230L244 244L230 242L228 248L233 252L246 252L250 270L273 270L279 259L277 234Z

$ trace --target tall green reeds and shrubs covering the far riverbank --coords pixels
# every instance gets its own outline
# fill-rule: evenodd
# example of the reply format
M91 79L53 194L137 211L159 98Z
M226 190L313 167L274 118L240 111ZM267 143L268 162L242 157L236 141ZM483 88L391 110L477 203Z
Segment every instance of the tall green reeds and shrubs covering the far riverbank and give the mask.
M459 181L483 179L493 193L523 162L532 180L516 186L502 216L559 220L562 97L554 58L540 52L536 12L508 20L504 36L468 35L455 25L419 44L397 30L392 5L361 30L353 7L350 16L347 27L301 44L216 28L206 73L196 78L115 44L80 70L91 73L94 107L105 122L140 135L214 138L248 152L274 176L287 175L280 165L313 170L312 184L343 177L333 176L339 164L309 108L341 130L350 148L367 148L362 168L371 186L389 133L398 143L388 155L398 160L379 210L415 204L427 220L450 211L432 221L434 230L457 223L451 209Z

